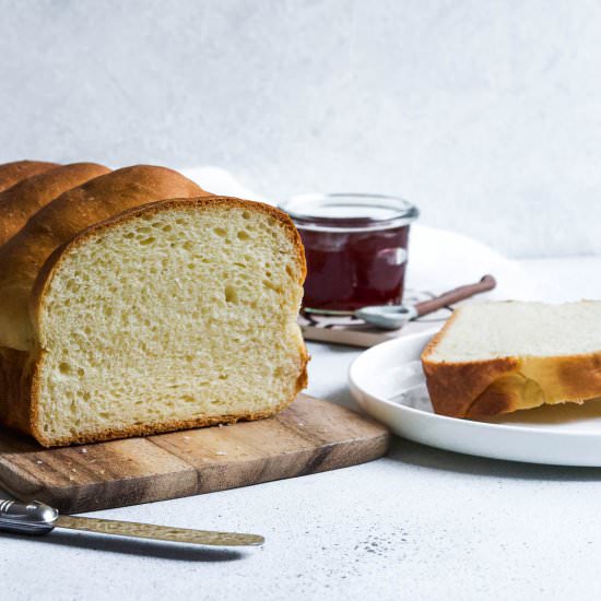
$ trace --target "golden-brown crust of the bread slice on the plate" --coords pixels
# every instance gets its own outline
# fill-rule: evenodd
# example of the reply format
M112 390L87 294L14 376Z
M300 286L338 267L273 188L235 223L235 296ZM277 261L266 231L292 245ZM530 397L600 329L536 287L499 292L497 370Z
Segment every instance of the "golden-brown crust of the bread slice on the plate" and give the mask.
M422 353L434 411L452 417L486 419L521 409L601 396L601 352L565 356L507 356L439 362L432 355L459 311Z

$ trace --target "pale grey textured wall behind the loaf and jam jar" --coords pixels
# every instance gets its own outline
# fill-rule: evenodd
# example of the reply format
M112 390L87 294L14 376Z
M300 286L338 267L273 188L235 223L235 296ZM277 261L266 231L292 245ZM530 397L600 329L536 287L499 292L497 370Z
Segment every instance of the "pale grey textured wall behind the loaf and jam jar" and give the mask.
M601 252L601 3L0 0L0 161L400 193L511 256Z

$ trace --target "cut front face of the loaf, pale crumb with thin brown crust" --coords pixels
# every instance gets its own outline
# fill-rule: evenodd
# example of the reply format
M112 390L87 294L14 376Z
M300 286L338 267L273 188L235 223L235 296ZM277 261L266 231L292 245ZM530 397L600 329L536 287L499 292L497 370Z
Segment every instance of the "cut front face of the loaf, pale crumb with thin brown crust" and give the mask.
M274 414L306 385L304 278L292 222L261 203L168 200L85 229L37 278L11 425L59 446Z

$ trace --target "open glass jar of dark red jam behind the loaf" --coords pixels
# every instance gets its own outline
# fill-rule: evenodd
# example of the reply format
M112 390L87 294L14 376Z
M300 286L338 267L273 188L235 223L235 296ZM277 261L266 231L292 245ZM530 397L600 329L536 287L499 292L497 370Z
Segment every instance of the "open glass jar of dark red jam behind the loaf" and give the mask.
M352 311L402 300L417 209L380 195L302 195L281 205L307 257L304 308Z

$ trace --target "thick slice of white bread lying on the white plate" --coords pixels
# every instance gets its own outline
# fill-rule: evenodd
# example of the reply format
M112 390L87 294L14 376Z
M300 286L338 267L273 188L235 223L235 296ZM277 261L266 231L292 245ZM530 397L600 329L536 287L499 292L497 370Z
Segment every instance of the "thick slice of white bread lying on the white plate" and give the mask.
M601 302L473 303L422 354L436 413L487 417L601 396Z

